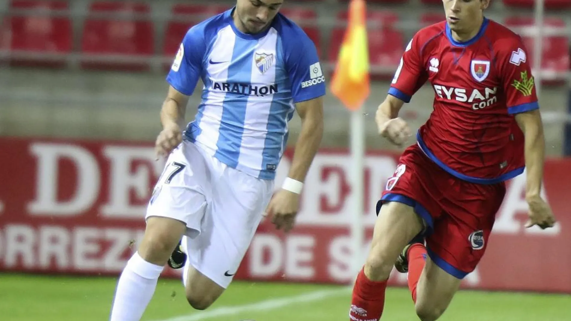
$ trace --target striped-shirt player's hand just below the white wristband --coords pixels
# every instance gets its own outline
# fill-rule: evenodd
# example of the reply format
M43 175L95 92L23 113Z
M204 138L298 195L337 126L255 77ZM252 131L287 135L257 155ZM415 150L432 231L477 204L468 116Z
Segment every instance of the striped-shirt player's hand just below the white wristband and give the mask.
M276 229L283 229L287 233L295 224L298 210L299 194L282 189L274 194L264 216L271 217Z

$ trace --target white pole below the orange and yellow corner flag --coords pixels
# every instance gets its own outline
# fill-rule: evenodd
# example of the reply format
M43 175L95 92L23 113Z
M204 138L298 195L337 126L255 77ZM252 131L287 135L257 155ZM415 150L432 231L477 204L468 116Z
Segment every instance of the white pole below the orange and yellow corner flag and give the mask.
M363 196L364 196L364 156L365 121L362 107L351 111L351 220L352 259L351 271L357 275L363 265Z

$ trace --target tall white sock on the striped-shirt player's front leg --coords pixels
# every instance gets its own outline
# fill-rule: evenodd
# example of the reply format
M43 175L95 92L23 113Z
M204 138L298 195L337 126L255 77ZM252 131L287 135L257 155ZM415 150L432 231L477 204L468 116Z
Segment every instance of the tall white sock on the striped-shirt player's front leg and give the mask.
M163 268L144 261L135 252L119 277L110 321L139 321L151 302Z

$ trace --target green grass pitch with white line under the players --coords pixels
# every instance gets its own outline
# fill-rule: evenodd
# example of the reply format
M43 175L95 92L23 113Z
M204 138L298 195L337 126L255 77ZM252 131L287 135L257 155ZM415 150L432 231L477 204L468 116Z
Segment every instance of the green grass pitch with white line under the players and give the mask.
M2 321L108 320L116 279L0 275ZM347 321L347 287L292 283L234 282L206 311L194 311L180 281L159 280L144 321ZM414 321L407 289L388 289L381 320ZM442 321L568 321L571 296L460 291Z

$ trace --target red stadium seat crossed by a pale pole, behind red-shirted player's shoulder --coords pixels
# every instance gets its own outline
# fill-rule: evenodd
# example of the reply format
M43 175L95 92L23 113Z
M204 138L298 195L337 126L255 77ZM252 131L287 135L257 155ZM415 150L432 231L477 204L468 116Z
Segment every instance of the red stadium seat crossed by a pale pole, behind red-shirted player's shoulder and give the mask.
M544 22L546 28L565 26L565 22L560 18L546 18ZM508 17L505 19L505 25L513 28L533 26L534 23L532 17ZM524 39L525 47L528 50L528 59L529 61L533 61L534 38L533 36L522 36L522 38ZM566 36L546 36L542 41L542 46L542 70L553 72L564 72L569 70L569 38ZM544 79L559 80L555 76L553 78L544 76Z

